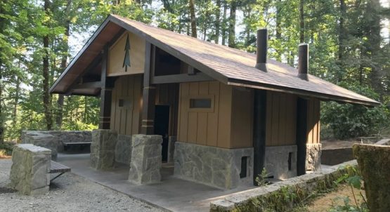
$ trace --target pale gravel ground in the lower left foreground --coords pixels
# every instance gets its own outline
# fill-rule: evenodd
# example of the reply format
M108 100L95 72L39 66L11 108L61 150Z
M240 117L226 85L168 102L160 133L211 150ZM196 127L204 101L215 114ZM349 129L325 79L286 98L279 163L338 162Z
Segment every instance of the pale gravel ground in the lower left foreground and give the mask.
M53 181L48 194L30 197L7 188L11 159L0 159L0 211L162 211L73 173Z

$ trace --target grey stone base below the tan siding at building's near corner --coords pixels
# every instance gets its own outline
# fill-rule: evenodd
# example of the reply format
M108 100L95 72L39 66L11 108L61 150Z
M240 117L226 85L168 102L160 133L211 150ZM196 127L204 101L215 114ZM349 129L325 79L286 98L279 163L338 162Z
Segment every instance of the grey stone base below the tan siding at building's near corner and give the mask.
M246 157L247 167L245 177L240 178L242 157ZM176 142L174 175L224 189L253 185L253 148L223 149Z

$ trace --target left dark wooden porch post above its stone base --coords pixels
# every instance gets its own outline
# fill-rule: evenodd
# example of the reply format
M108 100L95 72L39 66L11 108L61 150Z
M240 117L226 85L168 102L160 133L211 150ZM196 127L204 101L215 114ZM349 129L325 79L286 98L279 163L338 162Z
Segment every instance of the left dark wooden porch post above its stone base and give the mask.
M101 90L100 90L100 129L110 129L111 117L111 99L112 99L112 80L107 78L107 60L108 60L108 45L103 50L102 57L102 72L101 72Z

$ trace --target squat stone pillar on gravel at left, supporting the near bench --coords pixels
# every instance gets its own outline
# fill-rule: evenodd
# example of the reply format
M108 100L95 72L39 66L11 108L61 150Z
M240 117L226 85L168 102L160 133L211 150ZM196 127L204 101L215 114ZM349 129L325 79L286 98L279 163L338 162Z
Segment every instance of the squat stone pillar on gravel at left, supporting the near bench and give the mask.
M46 194L50 185L50 161L51 150L32 144L15 145L9 186L21 194Z

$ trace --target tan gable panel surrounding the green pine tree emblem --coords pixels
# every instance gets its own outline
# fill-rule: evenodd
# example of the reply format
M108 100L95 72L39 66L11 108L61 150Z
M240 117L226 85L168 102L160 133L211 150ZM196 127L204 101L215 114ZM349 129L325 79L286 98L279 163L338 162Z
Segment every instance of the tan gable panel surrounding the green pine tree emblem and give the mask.
M124 47L126 44L126 37L129 35L130 41L130 67L127 67L127 72L123 67ZM122 76L129 74L142 74L145 66L145 39L132 34L131 32L124 32L119 39L110 46L108 51L108 70L109 77Z

